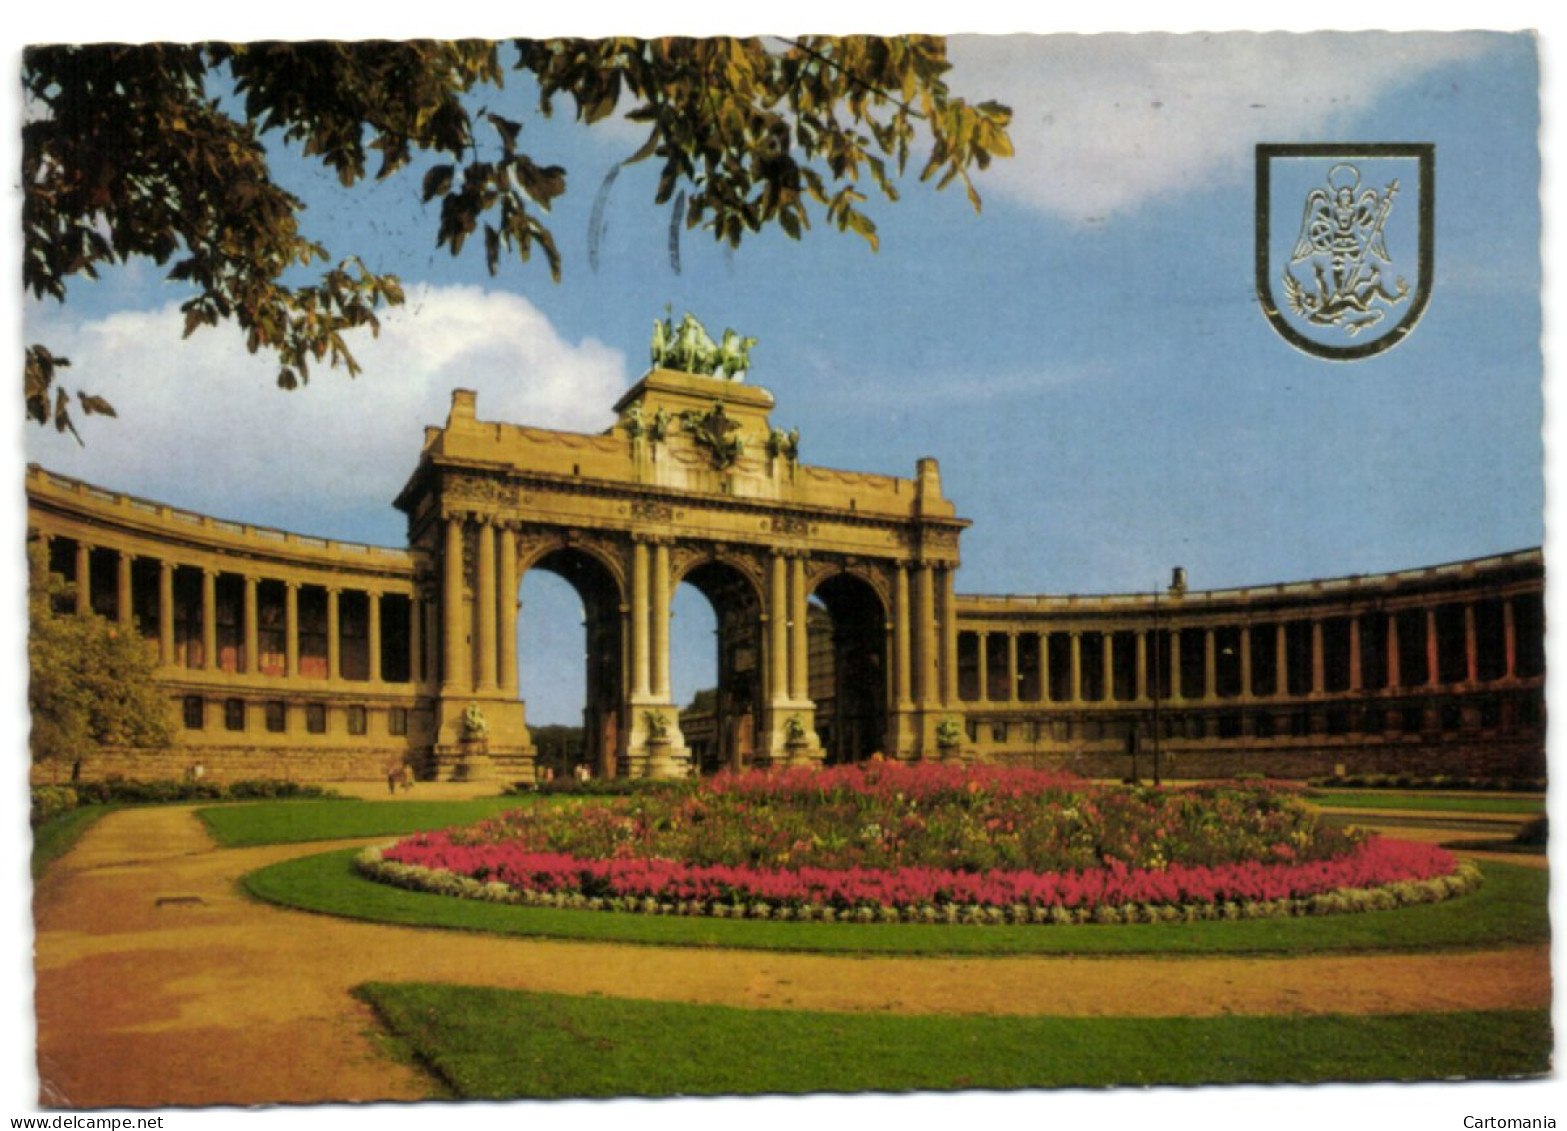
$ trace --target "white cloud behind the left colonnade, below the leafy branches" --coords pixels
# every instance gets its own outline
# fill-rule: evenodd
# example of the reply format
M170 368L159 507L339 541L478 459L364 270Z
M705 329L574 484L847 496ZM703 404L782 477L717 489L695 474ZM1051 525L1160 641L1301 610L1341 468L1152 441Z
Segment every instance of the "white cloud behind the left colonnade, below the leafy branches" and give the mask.
M599 431L627 385L621 351L567 341L527 299L478 287L411 291L379 338L351 338L357 379L317 368L291 393L274 385L276 359L246 354L232 326L185 341L180 327L172 304L38 327L71 357L64 384L108 398L119 420L81 421L86 446L33 429L28 457L218 517L338 534L354 515L387 522L453 388L478 392L483 420Z

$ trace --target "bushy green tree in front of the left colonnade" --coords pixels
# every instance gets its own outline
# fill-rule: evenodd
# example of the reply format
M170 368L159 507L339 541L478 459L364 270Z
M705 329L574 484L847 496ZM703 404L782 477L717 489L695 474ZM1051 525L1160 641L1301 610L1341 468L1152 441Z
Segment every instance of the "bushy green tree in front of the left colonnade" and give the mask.
M33 761L71 764L97 746L158 747L172 739L169 699L136 633L96 614L60 612L72 586L28 544L28 686Z

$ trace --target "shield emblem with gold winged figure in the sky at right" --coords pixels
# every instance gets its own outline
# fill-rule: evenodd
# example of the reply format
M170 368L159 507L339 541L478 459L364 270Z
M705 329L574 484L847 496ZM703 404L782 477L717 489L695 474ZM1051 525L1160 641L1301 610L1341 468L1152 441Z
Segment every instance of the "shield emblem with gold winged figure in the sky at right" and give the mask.
M1257 298L1297 349L1391 349L1431 301L1435 147L1257 146Z

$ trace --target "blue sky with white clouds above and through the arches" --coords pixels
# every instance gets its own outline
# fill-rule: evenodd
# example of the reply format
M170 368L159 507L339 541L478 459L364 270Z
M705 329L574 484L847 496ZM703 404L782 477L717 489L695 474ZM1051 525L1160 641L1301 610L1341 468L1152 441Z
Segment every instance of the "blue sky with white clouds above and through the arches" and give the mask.
M569 169L552 215L559 285L539 262L489 277L476 248L436 249L417 169L343 193L279 152L310 232L406 282L407 307L357 348L365 374L280 393L232 331L180 345L179 288L133 265L64 307L27 304L28 340L69 354L121 410L88 421L85 448L31 431L28 459L224 517L400 544L390 500L451 387L478 388L486 418L597 431L668 302L760 338L749 379L807 461L910 475L937 456L975 523L962 592L1136 591L1172 566L1196 587L1260 584L1540 544L1533 38L970 36L953 56L956 91L1014 107L1017 157L978 177L978 215L912 175L899 202L873 199L874 252L821 224L738 251L686 232L677 273L655 169L632 166L594 271L591 205L639 132L545 121L517 81L483 100ZM1435 144L1437 276L1407 341L1329 362L1269 327L1252 273L1260 141ZM536 625L550 647L523 652L525 680L559 655L556 631L570 649L578 631L569 591L530 586L536 614L566 612ZM677 663L682 692L708 678L710 631L682 591L677 642L686 625L702 655ZM534 672L534 717L575 714L558 672Z

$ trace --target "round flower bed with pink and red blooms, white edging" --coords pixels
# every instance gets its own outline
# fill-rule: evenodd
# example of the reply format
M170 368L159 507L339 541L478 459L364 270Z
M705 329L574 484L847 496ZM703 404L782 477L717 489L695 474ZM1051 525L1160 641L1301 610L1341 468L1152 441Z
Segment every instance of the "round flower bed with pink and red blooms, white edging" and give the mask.
M1429 902L1478 879L1442 849L1321 826L1266 783L1144 790L898 764L520 810L371 849L360 868L501 902L987 923L1330 913Z

